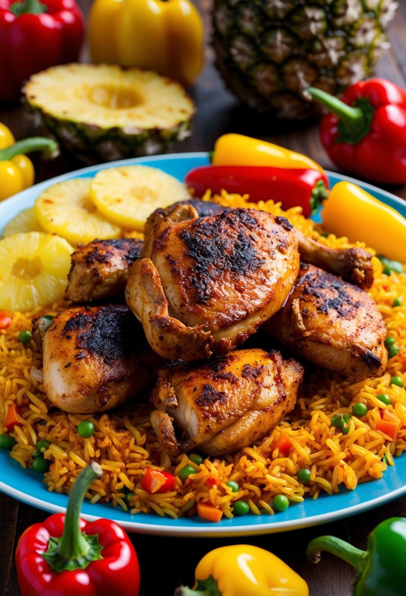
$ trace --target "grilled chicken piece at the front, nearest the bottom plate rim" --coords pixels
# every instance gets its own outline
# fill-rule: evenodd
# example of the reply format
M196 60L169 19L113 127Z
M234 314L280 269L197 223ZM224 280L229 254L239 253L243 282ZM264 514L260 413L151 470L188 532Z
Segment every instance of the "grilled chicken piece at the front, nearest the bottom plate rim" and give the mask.
M302 377L298 362L261 349L165 368L152 390L152 428L171 457L194 448L208 455L239 451L293 409Z

